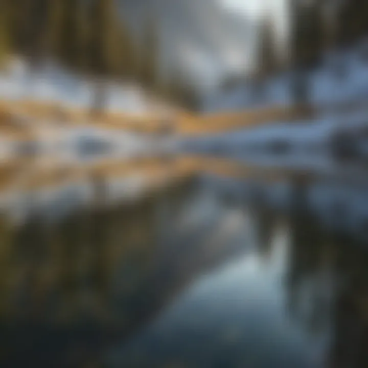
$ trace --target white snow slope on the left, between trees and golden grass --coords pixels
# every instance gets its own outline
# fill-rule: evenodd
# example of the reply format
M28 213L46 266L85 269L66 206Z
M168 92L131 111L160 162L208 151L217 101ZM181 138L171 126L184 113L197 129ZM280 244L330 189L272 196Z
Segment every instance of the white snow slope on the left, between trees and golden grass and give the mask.
M52 62L35 70L20 59L10 62L0 73L0 99L30 99L59 102L67 106L89 107L94 98L92 82ZM150 101L142 88L132 83L106 83L106 109L142 114L157 108L158 101Z

